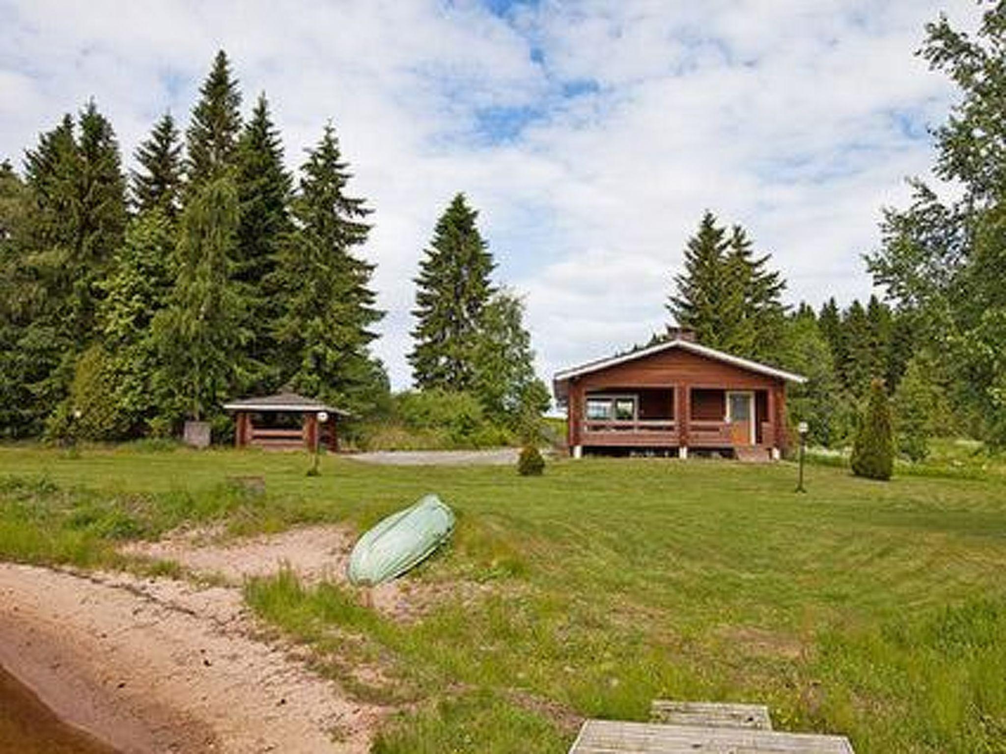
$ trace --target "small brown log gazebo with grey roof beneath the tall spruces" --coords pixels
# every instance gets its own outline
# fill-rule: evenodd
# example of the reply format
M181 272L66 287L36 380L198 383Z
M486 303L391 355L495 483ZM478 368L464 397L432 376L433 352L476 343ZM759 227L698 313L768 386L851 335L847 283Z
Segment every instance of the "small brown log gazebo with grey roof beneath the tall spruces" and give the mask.
M339 449L337 418L348 416L320 400L288 391L231 401L223 409L234 414L236 447L271 450L314 450L317 443L334 452Z

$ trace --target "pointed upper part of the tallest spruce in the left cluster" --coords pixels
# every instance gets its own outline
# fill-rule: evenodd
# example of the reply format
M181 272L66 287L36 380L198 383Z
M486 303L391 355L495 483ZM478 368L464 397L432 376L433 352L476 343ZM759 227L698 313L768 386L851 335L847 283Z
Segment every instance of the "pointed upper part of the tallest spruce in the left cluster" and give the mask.
M241 95L223 50L216 53L199 93L201 99L192 111L192 121L185 132L187 194L197 192L205 183L233 167L241 129Z

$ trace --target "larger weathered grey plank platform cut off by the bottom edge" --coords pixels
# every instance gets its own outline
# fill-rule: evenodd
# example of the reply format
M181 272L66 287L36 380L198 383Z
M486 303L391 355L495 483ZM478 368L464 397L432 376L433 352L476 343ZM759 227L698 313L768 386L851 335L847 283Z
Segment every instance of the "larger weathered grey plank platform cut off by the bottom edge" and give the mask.
M855 754L845 736L588 720L569 754Z

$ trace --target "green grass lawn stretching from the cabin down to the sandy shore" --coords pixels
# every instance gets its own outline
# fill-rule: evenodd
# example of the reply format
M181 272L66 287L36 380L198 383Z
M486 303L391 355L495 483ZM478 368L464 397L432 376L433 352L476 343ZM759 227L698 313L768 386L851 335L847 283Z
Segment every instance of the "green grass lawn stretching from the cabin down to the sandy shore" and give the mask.
M390 467L302 454L0 448L0 557L122 564L188 521L360 528L437 492L451 547L408 578L459 590L398 624L287 574L245 594L361 699L401 703L380 752L564 751L576 716L655 697L764 702L860 754L1006 752L1006 485L839 467L586 459ZM255 497L227 478L257 475ZM450 590L448 589L450 592ZM379 669L360 676L354 668Z

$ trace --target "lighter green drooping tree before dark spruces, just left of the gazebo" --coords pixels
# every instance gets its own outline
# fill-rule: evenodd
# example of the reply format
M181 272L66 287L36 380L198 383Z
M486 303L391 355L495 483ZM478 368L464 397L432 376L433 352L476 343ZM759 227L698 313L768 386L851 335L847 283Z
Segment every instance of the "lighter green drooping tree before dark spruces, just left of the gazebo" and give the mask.
M180 219L176 282L168 307L154 319L158 391L197 420L239 392L248 373L244 305L230 277L237 219L237 192L228 177L192 197Z

